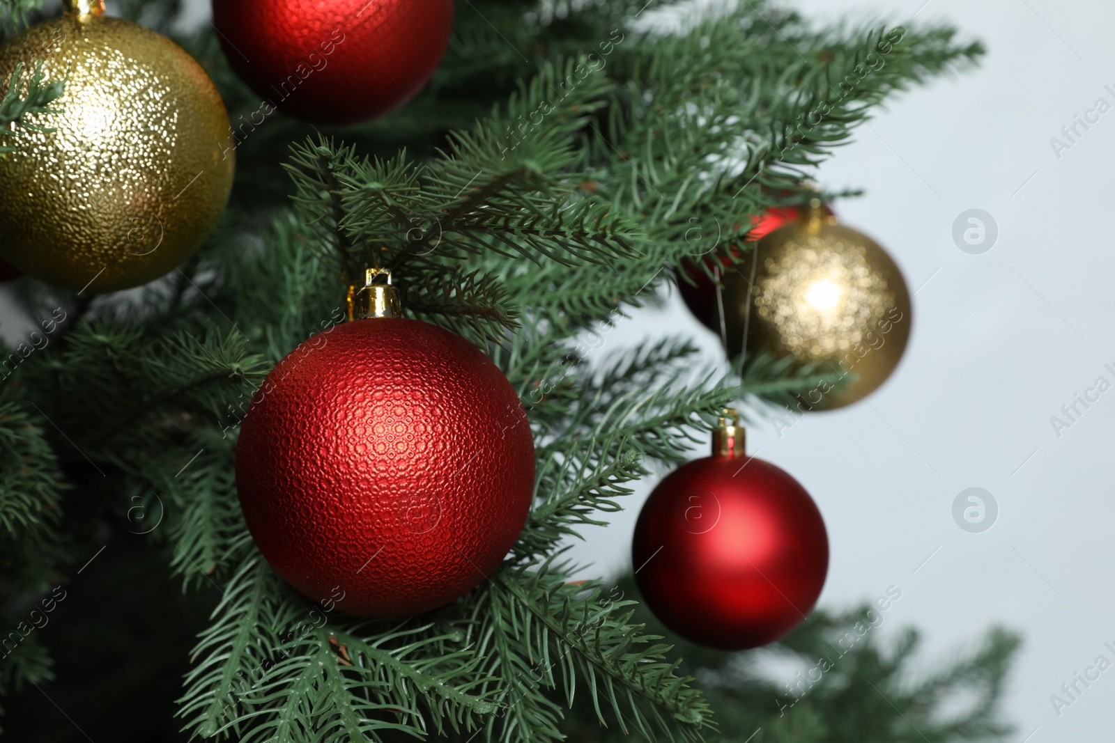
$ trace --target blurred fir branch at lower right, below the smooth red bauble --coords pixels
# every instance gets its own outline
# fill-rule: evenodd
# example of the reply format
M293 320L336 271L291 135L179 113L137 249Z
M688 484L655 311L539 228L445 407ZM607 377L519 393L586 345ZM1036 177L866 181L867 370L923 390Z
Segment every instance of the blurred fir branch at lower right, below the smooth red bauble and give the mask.
M890 599L901 598L895 586ZM610 589L615 600L638 598L629 573ZM917 633L884 642L876 628L886 609L866 605L834 614L814 609L809 617L776 645L758 651L725 653L673 637L646 605L634 606L633 619L649 632L677 642L685 658L681 671L700 669L701 685L720 727L746 737L763 727L770 741L908 741L934 743L1006 741L1012 732L999 712L1004 682L1018 637L992 628L975 652L939 671L924 671L917 653ZM801 664L808 673L789 683L770 675L770 657ZM806 678L807 677L807 678ZM595 710L586 700L562 726L570 740L623 743L618 731L600 731Z

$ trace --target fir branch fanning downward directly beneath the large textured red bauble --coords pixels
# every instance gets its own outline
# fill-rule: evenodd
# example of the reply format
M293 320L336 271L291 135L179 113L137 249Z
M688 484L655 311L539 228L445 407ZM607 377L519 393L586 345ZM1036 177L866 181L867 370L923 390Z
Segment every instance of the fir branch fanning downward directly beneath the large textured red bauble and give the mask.
M226 593L231 602L233 590ZM242 610L245 619L265 616L273 635L270 651L258 643L253 651L243 632L231 632L239 620L224 619L203 635L195 654L209 661L191 673L195 683L184 700L184 711L207 710L207 727L198 729L203 734L235 732L245 742L319 735L316 740L323 742L358 743L380 741L387 731L443 733L446 723L453 730L473 729L479 717L495 713L485 695L471 693L487 681L476 674L478 659L466 649L445 651L454 637L432 635L428 626L384 630L380 623L369 638L362 632L369 623L352 617L337 617L327 627L329 602L304 613L309 623L295 622L307 604L291 592L283 592L280 604L256 614L253 594ZM277 634L284 623L287 632ZM215 632L222 625L230 630ZM246 667L255 658L262 659Z

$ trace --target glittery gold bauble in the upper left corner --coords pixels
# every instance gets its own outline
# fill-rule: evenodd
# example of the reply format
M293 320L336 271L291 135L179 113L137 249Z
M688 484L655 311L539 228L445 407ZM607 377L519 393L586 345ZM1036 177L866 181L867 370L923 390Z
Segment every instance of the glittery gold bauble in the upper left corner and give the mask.
M229 116L181 47L74 0L60 17L0 47L0 80L43 59L65 80L57 114L29 114L3 137L0 255L50 284L91 292L138 286L190 257L232 188ZM12 125L14 128L14 125Z

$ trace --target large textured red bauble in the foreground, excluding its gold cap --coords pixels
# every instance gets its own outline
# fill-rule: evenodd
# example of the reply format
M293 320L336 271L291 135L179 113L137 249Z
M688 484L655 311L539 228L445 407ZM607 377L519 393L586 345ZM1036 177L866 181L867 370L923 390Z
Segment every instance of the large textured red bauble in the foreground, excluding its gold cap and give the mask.
M316 335L268 375L236 447L260 551L317 600L400 617L495 570L526 521L534 441L518 395L463 338L401 317Z

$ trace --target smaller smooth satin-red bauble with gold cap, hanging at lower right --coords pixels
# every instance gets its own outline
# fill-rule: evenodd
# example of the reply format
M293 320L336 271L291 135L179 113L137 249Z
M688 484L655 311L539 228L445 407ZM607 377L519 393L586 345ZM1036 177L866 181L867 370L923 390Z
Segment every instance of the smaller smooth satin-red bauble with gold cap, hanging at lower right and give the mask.
M639 590L667 627L739 651L773 643L809 613L828 571L828 536L809 493L744 454L738 416L725 413L712 457L683 465L650 493L632 558Z

